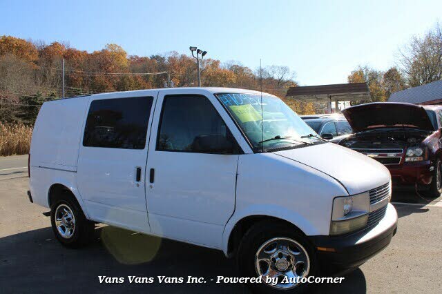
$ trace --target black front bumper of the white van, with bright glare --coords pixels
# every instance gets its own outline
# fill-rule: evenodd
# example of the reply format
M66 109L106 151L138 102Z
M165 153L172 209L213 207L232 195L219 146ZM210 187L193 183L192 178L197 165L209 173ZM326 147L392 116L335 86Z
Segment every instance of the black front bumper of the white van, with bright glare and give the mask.
M367 259L387 247L396 234L397 213L388 204L385 217L370 228L344 236L311 236L322 273L339 273L361 266ZM320 251L320 248L333 248L334 252Z

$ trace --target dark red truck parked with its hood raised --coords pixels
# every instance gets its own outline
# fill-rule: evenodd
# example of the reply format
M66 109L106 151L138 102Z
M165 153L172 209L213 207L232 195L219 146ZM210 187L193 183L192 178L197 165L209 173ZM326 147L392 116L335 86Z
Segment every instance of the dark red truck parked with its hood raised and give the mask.
M384 164L394 185L419 185L441 195L442 106L371 103L343 114L355 133L342 146Z

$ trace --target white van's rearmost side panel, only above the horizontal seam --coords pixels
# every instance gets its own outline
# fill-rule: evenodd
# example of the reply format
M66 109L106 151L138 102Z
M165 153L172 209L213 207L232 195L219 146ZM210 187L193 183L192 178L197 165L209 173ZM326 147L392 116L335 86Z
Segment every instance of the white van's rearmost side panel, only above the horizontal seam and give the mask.
M32 133L30 165L77 170L78 149L89 97L43 104Z

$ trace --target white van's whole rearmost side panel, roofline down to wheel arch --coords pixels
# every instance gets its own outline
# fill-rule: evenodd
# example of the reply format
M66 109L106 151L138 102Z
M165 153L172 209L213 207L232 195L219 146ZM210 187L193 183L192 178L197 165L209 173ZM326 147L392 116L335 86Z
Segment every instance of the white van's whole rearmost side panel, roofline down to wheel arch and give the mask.
M46 102L35 121L30 144L30 191L35 203L49 208L53 184L68 187L84 207L77 190L77 160L90 97ZM86 217L87 210L84 209Z

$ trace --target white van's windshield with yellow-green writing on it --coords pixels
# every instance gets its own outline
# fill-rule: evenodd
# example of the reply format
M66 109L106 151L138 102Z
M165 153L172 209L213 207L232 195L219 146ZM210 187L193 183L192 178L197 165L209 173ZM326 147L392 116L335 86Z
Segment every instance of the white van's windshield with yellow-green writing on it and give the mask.
M254 152L299 148L323 142L277 97L262 95L261 98L259 94L242 93L216 96L241 128Z

